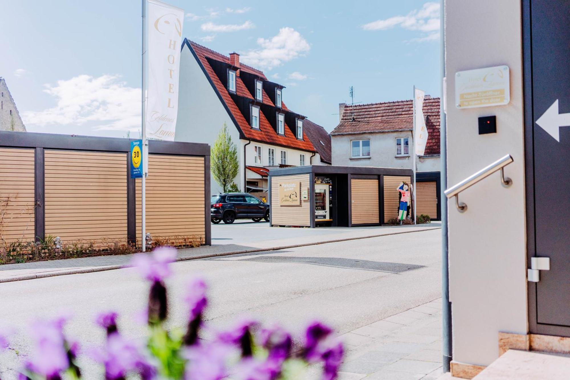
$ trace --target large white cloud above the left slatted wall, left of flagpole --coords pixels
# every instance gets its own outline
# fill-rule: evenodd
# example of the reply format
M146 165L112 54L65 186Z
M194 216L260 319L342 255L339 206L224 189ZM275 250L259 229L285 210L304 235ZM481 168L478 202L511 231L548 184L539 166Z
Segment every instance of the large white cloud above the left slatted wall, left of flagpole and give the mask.
M141 89L132 88L116 75L79 75L44 85L55 98L55 107L26 111L26 125L85 125L96 130L138 130L141 123Z

